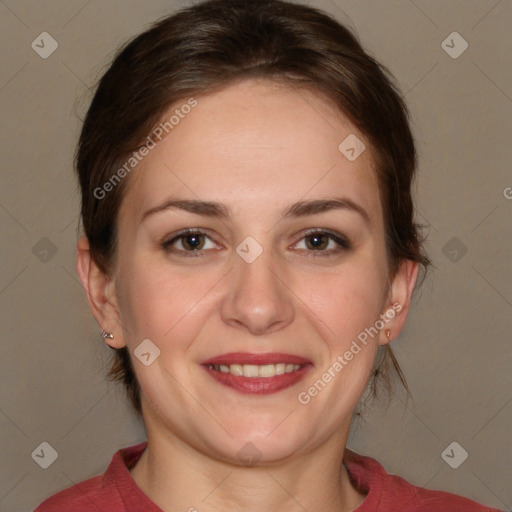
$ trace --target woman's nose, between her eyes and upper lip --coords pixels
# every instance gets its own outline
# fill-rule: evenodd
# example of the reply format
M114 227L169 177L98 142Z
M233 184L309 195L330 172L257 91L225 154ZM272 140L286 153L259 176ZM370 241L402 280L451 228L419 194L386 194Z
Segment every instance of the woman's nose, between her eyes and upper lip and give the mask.
M264 250L252 263L235 256L228 279L228 291L220 306L227 324L251 334L266 334L293 321L293 293L270 251Z

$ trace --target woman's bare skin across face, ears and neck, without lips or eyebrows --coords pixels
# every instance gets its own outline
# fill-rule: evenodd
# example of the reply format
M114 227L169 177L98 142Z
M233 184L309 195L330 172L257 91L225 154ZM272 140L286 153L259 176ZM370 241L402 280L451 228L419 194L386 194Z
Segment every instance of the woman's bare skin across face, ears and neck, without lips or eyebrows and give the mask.
M418 265L389 275L370 145L319 93L250 80L197 100L127 178L112 274L78 241L78 272L98 324L115 336L109 344L133 353L149 338L160 350L149 366L133 358L149 445L131 475L165 511L354 510L365 494L342 465L351 416L378 346L405 323ZM353 162L338 150L349 134L366 145ZM167 209L141 222L171 197L215 201L231 216ZM358 204L368 222L350 209L282 215L297 201L332 198ZM185 228L207 232L202 255L183 256L190 239L172 246L181 253L162 247ZM332 252L319 255L310 228L343 234L351 247L321 238ZM236 252L249 236L263 249L252 263ZM299 403L396 302L391 336L382 329ZM243 395L200 365L238 351L297 354L314 366L278 393ZM251 467L239 456L247 443L261 454Z

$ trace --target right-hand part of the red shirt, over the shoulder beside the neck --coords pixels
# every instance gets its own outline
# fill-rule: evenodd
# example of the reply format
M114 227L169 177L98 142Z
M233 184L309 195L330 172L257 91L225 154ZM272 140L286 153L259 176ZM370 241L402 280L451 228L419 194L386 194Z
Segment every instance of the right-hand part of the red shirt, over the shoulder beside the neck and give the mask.
M354 512L499 512L463 496L429 490L391 475L375 459L346 450L344 461L353 484L365 494L365 501Z

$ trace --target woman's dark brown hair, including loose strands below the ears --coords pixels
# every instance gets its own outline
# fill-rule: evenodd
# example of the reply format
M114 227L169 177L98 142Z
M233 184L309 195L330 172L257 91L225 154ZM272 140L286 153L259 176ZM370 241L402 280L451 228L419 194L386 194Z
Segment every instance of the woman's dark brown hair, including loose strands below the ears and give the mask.
M130 176L103 199L94 191L145 143L172 104L249 78L323 94L367 137L384 210L390 275L407 259L426 271L430 262L413 219L416 149L392 75L332 17L282 0L204 1L157 21L117 52L97 85L75 156L83 230L99 268L109 274L115 266L117 216ZM389 390L388 366L408 390L391 348L385 347L371 380L374 394L380 378ZM109 377L124 383L141 413L126 348L116 351Z

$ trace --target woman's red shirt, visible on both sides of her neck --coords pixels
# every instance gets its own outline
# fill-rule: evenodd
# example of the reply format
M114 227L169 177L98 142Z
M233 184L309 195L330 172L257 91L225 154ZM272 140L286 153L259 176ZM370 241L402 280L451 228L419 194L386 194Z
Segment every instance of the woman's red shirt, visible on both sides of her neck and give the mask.
M34 512L162 512L138 487L129 469L147 446L116 452L107 471L48 498ZM354 512L499 512L442 491L429 491L389 475L370 457L345 451L351 481L366 499Z

